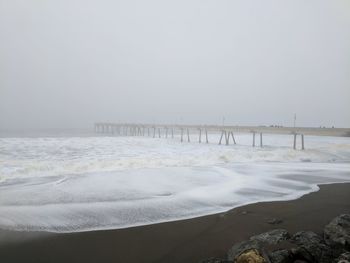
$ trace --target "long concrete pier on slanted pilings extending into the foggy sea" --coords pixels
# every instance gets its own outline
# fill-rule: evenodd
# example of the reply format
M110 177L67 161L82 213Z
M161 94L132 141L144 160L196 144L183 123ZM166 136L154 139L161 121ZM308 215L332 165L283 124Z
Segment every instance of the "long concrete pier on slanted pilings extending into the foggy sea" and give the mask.
M256 146L256 134L259 133L260 147L263 147L263 133L265 134L284 134L293 136L293 149L297 150L298 137L300 135L300 150L305 149L304 135L312 136L334 136L334 137L350 137L350 128L308 128L308 127L267 127L267 126L220 126L220 125L163 125L163 124L136 124L136 123L95 123L94 131L103 135L118 136L151 136L153 129L153 138L158 133L158 138L168 138L171 131L171 138L175 137L175 133L180 134L180 141L184 141L184 131L186 130L187 142L191 142L190 134L198 133L198 143L202 143L202 135L205 133L205 141L209 143L208 132L218 133L219 142L225 138L225 145L230 145L230 138L235 145L236 139L234 133L251 133L253 136L252 146Z

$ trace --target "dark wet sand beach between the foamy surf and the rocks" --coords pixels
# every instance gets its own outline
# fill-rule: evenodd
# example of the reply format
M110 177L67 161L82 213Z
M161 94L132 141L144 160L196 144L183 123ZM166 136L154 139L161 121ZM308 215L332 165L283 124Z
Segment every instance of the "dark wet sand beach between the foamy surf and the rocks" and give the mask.
M262 202L226 213L119 230L70 234L0 230L0 262L198 262L224 257L236 242L274 228L321 234L335 216L350 213L350 184L293 201ZM1 216L1 215L0 215ZM283 220L271 225L269 220Z

